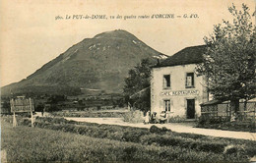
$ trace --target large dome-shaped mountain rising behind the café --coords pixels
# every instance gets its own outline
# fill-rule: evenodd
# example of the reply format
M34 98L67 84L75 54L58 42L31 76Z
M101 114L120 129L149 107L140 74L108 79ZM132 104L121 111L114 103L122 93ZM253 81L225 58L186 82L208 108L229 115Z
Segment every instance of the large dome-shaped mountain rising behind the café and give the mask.
M149 58L166 55L125 30L113 30L86 38L43 65L23 81L2 87L2 94L79 94L81 90L121 92L128 71Z

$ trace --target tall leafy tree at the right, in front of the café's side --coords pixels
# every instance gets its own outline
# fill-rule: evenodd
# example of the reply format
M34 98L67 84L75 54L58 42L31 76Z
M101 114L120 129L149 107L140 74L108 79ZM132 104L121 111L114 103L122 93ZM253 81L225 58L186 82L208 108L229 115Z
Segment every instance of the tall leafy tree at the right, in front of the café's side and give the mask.
M241 11L232 5L228 11L233 22L216 25L214 33L204 38L207 51L196 71L206 77L214 98L230 100L237 112L239 99L253 98L256 92L256 27L246 5L242 4Z

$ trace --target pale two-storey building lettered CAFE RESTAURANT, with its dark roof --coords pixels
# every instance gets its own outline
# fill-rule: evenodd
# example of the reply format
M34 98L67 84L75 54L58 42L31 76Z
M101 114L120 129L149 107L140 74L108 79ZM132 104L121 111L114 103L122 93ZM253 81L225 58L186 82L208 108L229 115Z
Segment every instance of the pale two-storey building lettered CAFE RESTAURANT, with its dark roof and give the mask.
M196 64L203 61L205 46L187 47L152 68L151 113L157 117L166 111L167 117L195 119L200 116L200 104L208 101L203 77L195 74Z

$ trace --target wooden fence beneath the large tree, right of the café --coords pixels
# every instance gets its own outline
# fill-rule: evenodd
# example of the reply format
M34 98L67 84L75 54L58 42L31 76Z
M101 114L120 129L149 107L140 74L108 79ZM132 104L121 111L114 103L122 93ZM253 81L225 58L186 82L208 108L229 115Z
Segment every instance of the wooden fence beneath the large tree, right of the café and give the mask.
M234 115L234 111L230 110L229 103L212 104L201 106L201 116L204 119L223 119L230 121L235 116L235 120L239 121L255 121L256 102L240 102L239 111Z

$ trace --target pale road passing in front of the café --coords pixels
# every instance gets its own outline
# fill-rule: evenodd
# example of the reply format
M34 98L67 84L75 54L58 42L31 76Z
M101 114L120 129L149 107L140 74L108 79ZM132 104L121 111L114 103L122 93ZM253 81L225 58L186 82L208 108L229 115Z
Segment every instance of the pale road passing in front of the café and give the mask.
M66 117L65 119L78 121L78 122L90 122L90 123L96 123L96 124L130 126L130 127L136 127L136 128L150 128L151 126L156 125L159 128L165 127L167 129L170 129L171 131L177 132L177 133L190 133L190 134L198 134L198 135L204 135L204 136L219 136L219 137L256 140L255 133L193 128L193 124L191 124L191 123L188 123L188 124L170 123L170 124L147 124L147 125L144 125L143 123L139 123L139 124L126 123L126 122L123 122L121 118L74 118L74 117L67 118Z

